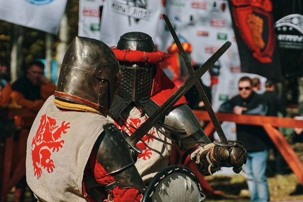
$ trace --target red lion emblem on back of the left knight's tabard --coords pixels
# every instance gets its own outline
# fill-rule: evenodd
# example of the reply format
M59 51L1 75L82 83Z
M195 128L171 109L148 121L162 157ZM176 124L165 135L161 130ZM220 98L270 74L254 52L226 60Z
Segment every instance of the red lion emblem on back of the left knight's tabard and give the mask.
M47 117L46 114L41 116L40 125L31 144L34 175L37 175L37 179L41 177L41 168L47 169L48 173L53 172L55 165L50 150L53 149L54 153L55 150L58 152L63 147L64 140L58 139L61 138L62 133L66 133L66 129L70 128L69 124L63 121L59 127L55 119Z

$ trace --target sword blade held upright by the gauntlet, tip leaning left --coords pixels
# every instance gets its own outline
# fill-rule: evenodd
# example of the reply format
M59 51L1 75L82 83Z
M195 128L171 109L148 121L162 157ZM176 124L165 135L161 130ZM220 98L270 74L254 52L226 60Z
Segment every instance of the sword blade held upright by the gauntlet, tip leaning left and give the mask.
M177 47L179 49L179 53L181 54L181 56L182 56L182 58L183 58L183 60L185 62L185 65L187 67L189 75L194 74L194 70L193 70L193 68L191 66L191 62L188 60L188 58L187 58L187 56L185 54L184 48L183 48L183 46L182 46L182 44L181 44L181 42L179 40L179 37L177 36L177 34L176 34L176 32L175 32L175 30L174 30L174 28L173 28L173 26L172 26L172 24L171 24L168 16L166 14L163 14L163 18L164 18L164 20L166 22L166 25L168 26L169 31L171 32L171 34L172 34L172 36L174 38L174 41L175 41L175 43L176 43L176 45L177 45ZM211 120L212 120L212 122L213 122L213 124L215 126L215 129L216 129L216 131L218 133L218 136L219 136L219 138L221 140L221 143L228 145L229 143L228 143L227 138L226 138L226 136L224 134L224 131L223 131L222 127L221 127L221 124L220 124L220 122L217 119L217 116L216 116L216 114L215 114L215 112L214 112L214 110L212 108L212 105L211 105L209 99L207 98L207 96L205 94L205 91L204 91L201 83L199 81L197 81L194 85L195 85L195 87L196 87L196 89L197 89L197 91L198 91L198 93L199 93L199 95L200 95L200 97L201 97L204 105L205 105L206 111L208 112L208 114L209 114L209 116L210 116L210 118L211 118Z

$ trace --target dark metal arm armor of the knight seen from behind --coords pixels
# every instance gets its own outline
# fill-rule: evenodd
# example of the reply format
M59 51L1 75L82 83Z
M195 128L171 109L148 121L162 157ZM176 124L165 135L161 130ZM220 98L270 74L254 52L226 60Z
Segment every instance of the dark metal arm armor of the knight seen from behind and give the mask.
M128 144L115 124L104 126L104 132L98 137L94 150L98 163L115 179L112 184L102 187L103 190L108 191L118 186L120 189L135 188L144 192L145 185L134 165ZM100 185L93 183L93 180L84 179L85 188L91 197L99 195L96 186Z

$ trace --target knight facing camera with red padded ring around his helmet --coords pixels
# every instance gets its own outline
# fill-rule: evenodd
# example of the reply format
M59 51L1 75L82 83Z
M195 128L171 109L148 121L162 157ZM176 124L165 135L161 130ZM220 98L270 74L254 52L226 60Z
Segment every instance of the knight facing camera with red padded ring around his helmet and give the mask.
M110 111L110 119L131 135L155 112L177 87L159 68L166 54L155 51L152 38L142 32L129 32L112 47L121 70L121 82ZM211 175L221 167L233 167L239 173L246 162L246 150L240 143L230 148L215 145L182 97L172 110L146 134L137 147L136 167L145 184L168 167L173 146L190 155L197 170Z

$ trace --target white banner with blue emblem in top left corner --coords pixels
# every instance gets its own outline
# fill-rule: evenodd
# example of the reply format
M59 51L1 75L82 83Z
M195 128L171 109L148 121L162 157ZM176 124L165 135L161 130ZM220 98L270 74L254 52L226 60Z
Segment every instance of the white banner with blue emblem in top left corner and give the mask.
M0 19L57 34L67 0L0 0Z

